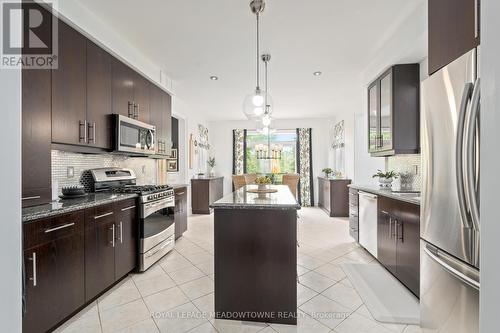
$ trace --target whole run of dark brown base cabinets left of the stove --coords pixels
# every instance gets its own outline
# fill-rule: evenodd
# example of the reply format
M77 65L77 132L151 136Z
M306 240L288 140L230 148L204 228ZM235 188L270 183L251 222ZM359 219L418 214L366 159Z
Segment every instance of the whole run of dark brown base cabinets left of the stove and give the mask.
M46 332L135 269L135 199L23 225L23 332Z

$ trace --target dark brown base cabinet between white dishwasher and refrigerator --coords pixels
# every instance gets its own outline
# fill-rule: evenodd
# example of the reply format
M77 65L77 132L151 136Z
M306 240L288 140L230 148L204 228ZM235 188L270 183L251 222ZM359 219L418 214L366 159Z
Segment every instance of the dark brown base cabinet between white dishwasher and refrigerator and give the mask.
M418 205L379 196L377 254L382 265L418 297L420 292L420 207Z

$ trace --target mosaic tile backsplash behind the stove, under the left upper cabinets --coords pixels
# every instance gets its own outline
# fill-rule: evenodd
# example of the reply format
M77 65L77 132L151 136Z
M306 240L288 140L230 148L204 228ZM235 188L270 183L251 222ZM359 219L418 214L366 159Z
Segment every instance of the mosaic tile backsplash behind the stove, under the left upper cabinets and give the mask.
M83 185L85 191L93 192L90 169L120 167L134 170L137 184L156 184L156 160L145 157L128 157L112 154L78 154L52 150L52 197L61 193L64 186ZM71 169L73 176L70 175Z

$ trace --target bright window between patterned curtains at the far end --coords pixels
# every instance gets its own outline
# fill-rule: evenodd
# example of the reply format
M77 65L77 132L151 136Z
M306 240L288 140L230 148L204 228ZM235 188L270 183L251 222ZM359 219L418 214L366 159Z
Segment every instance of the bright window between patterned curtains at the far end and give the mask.
M281 146L280 160L260 160L255 152L256 145L268 144L267 135L259 131L247 131L246 164L247 173L274 175L275 182L281 182L285 173L296 173L297 170L297 132L295 130L276 130L269 135L271 146Z

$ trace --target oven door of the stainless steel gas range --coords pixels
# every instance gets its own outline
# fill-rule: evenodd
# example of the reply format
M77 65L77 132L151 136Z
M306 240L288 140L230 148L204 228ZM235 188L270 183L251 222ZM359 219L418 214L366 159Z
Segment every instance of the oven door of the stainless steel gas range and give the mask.
M175 234L173 200L163 199L145 206L140 223L141 253L149 251Z

